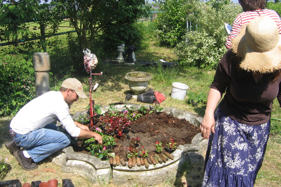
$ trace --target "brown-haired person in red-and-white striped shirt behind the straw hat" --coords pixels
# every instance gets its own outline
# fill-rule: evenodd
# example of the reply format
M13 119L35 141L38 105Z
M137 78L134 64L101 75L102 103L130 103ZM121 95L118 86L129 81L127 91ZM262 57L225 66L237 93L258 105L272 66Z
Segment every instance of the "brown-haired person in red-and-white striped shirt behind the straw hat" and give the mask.
M225 46L231 49L231 41L239 34L241 27L247 25L252 19L259 16L270 16L279 28L281 34L281 20L277 12L274 10L265 9L266 0L239 0L243 8L243 13L240 13L234 20L231 32L226 38Z

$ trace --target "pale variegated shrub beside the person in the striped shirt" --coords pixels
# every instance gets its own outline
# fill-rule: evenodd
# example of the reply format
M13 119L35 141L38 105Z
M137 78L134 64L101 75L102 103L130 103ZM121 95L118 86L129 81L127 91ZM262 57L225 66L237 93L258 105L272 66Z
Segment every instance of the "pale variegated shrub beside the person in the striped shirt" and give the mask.
M226 51L224 22L232 25L234 18L241 12L241 7L233 4L222 7L223 9L215 12L210 4L197 3L197 18L194 15L189 17L196 20L198 28L196 31L187 31L175 47L175 54L181 65L206 69L217 67Z

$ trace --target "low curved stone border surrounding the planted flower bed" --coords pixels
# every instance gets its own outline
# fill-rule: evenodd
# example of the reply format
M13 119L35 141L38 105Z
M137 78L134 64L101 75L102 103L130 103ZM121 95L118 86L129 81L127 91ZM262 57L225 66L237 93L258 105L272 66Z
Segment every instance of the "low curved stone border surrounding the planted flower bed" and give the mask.
M115 105L121 111L125 105ZM126 105L139 109L141 105ZM144 105L149 107L149 105ZM107 111L109 106L101 108L103 113ZM74 119L80 115L85 115L87 111L77 112ZM199 127L202 117L175 108L164 108L163 112L169 113L177 118L185 118L191 124ZM60 128L61 126L59 126ZM109 161L101 161L95 156L74 152L72 147L67 147L50 156L53 163L62 166L62 172L74 173L87 178L94 185L101 185L101 182L107 184L113 179L116 185L155 185L164 182L167 178L172 178L180 170L181 166L189 163L204 163L208 141L203 140L198 133L191 141L191 144L179 145L177 149L171 153L174 160L168 160L166 163L138 167L135 165L131 169L128 166L119 166L111 168ZM149 180L147 180L149 178Z

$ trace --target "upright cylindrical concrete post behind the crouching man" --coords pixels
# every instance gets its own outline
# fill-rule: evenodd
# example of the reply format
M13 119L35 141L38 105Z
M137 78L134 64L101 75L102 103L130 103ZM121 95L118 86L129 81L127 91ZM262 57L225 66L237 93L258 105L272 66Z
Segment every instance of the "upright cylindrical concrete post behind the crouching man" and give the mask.
M38 52L33 54L33 69L35 75L36 97L50 91L49 70L50 56L46 52Z

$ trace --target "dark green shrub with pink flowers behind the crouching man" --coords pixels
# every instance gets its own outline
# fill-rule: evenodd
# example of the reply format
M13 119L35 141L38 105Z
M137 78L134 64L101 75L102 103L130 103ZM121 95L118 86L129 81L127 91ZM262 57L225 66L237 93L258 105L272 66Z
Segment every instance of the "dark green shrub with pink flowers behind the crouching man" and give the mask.
M0 116L16 114L35 97L31 58L19 58L15 51L0 51ZM9 54L11 52L11 54Z

